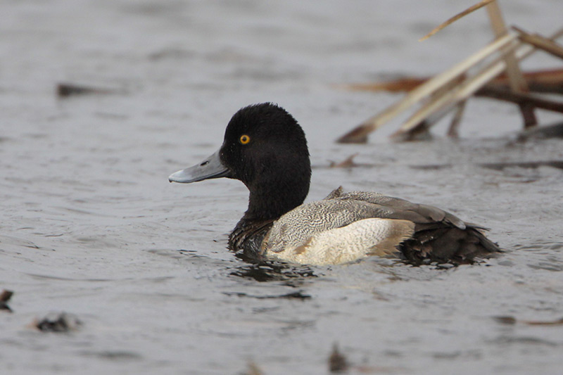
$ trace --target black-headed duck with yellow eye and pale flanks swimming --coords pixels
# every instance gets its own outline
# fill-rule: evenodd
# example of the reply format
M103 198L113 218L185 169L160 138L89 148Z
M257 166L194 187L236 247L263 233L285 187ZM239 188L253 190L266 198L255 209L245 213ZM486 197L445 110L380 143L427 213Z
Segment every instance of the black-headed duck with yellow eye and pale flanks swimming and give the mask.
M274 103L238 110L219 150L168 180L190 184L221 177L238 179L250 192L227 247L251 262L339 265L379 256L460 265L501 251L483 234L485 227L383 193L340 186L320 201L303 203L311 179L305 133Z

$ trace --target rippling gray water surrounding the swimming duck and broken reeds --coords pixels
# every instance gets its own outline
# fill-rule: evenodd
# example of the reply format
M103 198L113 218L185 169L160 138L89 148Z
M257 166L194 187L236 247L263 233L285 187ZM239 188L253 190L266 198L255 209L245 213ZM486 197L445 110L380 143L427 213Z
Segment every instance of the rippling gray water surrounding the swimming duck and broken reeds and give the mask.
M15 294L0 373L327 374L338 343L350 374L560 374L563 326L526 322L563 317L563 172L479 164L562 160L563 141L515 143L517 109L474 99L460 141L444 124L434 141L391 144L392 123L367 145L334 143L400 97L334 84L431 75L491 40L481 11L417 42L469 3L2 1L0 291ZM526 30L562 26L560 0L501 5ZM538 53L524 67L557 64ZM57 99L59 82L114 94ZM506 253L453 269L234 257L244 186L167 176L262 101L308 135L308 201L343 185L438 205L491 227ZM354 153L360 167L328 167ZM62 311L79 329L30 328Z

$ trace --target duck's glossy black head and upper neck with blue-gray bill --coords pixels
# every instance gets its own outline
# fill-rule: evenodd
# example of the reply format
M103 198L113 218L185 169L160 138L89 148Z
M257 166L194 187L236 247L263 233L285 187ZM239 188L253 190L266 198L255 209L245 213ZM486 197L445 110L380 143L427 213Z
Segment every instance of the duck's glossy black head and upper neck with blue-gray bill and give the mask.
M303 129L272 103L234 114L216 153L170 175L170 182L229 177L250 191L246 220L271 220L301 205L309 191L311 166Z

